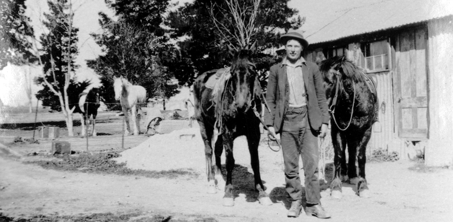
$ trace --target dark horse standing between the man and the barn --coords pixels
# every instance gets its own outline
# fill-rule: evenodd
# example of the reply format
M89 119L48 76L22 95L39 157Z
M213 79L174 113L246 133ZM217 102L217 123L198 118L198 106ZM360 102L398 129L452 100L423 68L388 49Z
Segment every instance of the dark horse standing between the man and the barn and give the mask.
M341 180L357 183L357 193L367 197L365 179L365 150L371 129L378 120L378 97L374 82L364 70L344 56L335 56L321 62L327 102L331 111L331 135L334 146L335 176L330 185L332 198L341 198ZM346 166L345 149L349 162ZM358 163L358 178L355 160Z

